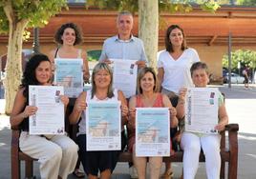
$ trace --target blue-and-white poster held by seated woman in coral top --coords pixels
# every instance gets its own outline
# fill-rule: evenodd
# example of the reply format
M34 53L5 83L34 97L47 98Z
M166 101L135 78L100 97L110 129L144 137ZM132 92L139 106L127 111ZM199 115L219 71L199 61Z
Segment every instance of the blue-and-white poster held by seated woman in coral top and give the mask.
M170 156L168 108L136 109L136 156Z

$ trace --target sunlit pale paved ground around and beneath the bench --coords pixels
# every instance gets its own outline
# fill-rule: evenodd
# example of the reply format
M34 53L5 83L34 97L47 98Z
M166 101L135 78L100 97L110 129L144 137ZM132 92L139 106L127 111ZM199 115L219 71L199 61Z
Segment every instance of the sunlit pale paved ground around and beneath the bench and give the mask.
M238 123L239 130L239 179L255 179L256 178L256 87L244 89L242 85L235 85L231 89L226 86L219 87L226 96L226 109L229 115L230 123ZM3 113L4 101L0 100L0 113ZM0 179L11 178L10 165L10 143L11 130L9 117L0 115ZM23 166L22 166L23 167ZM173 164L175 170L175 179L181 175L181 164ZM22 173L24 170L22 168ZM113 178L128 179L128 165L118 163L114 171ZM38 163L34 166L34 174L39 177ZM24 176L24 175L23 175ZM70 175L69 179L75 177ZM200 165L197 179L204 179L204 164Z

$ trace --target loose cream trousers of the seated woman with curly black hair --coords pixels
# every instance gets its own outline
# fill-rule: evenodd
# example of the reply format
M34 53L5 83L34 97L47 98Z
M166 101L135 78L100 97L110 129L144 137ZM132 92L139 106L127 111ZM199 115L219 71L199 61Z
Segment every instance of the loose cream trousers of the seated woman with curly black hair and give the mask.
M52 135L50 139L30 135L22 131L19 138L20 149L38 159L42 179L66 179L74 171L78 147L66 135Z

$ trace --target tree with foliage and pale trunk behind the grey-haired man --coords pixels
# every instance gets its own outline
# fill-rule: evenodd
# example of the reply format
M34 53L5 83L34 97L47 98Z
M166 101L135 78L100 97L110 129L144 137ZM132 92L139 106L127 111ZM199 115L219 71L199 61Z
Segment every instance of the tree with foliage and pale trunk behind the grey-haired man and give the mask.
M156 68L159 44L159 11L189 12L192 10L191 2L201 2L201 8L208 11L215 11L220 7L214 0L87 0L86 7L139 11L139 38L144 42L150 66Z

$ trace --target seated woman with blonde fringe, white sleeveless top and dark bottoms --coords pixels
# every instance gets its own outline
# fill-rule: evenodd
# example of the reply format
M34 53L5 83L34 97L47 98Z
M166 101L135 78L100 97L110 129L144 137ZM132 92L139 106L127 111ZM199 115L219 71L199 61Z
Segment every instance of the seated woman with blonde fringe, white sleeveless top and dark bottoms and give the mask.
M76 124L81 117L78 132L79 154L89 179L96 179L98 170L100 178L108 179L117 166L121 150L87 151L86 150L86 104L93 101L121 102L122 133L121 149L124 148L125 138L123 125L127 122L127 102L120 90L113 89L113 73L105 63L98 63L93 70L92 89L83 91L75 101L75 107L70 115L70 122Z

